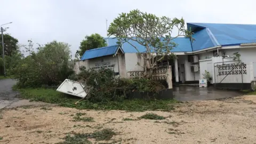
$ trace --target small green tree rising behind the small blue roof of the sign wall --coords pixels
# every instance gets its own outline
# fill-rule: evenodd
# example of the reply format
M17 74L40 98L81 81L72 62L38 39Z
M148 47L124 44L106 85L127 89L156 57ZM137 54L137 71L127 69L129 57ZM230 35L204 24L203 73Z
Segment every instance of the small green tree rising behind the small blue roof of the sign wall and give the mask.
M98 47L107 46L105 39L99 34L85 36L85 39L80 43L79 50L76 51L76 57L82 57L84 52Z

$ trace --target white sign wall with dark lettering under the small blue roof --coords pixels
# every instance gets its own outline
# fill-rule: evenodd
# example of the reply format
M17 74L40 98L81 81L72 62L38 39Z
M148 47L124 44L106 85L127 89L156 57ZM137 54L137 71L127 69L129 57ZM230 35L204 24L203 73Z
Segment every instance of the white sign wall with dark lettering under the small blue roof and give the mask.
M117 57L108 56L89 60L89 68L101 69L110 68L113 69L115 73L118 73L118 59Z

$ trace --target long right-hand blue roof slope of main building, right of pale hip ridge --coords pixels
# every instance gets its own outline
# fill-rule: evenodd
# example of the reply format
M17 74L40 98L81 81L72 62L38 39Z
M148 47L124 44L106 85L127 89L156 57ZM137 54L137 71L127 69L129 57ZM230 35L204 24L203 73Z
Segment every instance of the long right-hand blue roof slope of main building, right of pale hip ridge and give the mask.
M219 43L218 45L256 42L256 25L224 23L187 23L187 25L188 28L191 27L191 30L208 28ZM204 49L205 48L207 47L204 47Z

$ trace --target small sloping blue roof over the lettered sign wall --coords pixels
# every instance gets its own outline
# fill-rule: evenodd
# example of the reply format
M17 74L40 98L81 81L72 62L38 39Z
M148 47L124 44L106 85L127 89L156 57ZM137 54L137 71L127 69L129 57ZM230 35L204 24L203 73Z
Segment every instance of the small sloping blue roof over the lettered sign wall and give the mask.
M87 50L84 52L84 55L81 58L81 60L87 60L87 59L103 57L106 55L112 55L112 54L115 54L118 49L119 49L118 45L111 45L106 47L100 47L98 49ZM123 50L121 49L121 51Z

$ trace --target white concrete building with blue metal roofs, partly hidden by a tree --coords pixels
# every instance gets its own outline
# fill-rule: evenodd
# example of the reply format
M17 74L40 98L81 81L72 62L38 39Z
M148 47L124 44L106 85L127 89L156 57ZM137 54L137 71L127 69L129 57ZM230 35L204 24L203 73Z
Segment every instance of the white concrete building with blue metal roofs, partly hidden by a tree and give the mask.
M172 66L174 83L198 83L207 70L215 87L251 88L251 83L256 81L256 25L187 23L187 28L194 32L195 41L175 38L173 41L178 46L171 52L177 59L163 61ZM143 63L138 51L129 43L119 47L116 42L116 38L108 38L109 46L86 51L76 71L79 66L85 66L113 68L120 77L138 76L138 71L143 73L144 69L137 65ZM142 45L131 43L145 52Z

